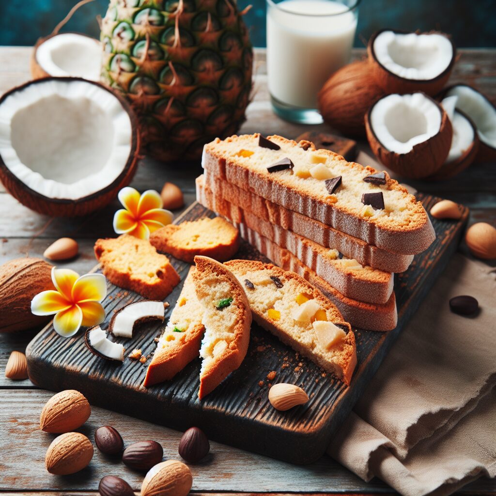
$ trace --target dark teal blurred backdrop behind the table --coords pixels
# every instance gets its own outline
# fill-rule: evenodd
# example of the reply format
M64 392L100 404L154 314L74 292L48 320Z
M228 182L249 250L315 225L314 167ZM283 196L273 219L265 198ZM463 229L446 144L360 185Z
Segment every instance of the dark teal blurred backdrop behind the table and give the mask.
M51 33L76 0L0 0L0 45L34 45ZM107 0L83 5L66 31L98 36L97 15ZM240 9L252 4L245 19L255 46L265 46L265 0L239 0ZM362 0L356 47L381 28L450 33L458 47L496 45L496 0Z

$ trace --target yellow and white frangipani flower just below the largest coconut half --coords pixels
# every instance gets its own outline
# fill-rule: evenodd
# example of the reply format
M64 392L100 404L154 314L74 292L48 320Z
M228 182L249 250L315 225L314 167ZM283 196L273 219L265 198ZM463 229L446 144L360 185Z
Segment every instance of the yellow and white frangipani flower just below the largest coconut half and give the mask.
M114 231L147 240L150 233L172 222L172 212L162 208L162 198L153 189L142 195L133 187L119 191L119 201L124 208L114 215Z

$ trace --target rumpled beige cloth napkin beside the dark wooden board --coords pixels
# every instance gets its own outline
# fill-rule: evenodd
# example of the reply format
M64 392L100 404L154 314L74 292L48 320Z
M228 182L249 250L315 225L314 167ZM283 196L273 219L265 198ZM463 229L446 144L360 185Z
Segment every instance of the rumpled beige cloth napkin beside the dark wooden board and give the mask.
M479 314L452 313L458 295L477 298ZM448 495L496 477L495 385L495 269L457 253L328 453L405 496Z

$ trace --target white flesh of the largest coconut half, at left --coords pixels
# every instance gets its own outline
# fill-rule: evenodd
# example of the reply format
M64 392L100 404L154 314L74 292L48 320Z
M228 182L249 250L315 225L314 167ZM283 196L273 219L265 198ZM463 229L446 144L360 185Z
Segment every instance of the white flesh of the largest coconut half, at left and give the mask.
M0 155L26 186L76 200L111 185L131 152L132 125L109 91L81 80L49 79L0 105Z

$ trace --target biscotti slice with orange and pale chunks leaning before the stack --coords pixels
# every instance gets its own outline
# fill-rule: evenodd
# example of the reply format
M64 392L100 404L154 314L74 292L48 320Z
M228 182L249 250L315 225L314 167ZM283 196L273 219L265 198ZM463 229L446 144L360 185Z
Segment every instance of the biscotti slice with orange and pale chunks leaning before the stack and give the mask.
M253 319L283 343L349 384L357 364L355 335L339 310L294 272L252 260L225 265L244 285Z

